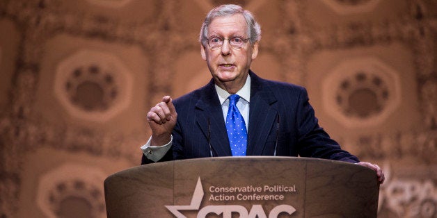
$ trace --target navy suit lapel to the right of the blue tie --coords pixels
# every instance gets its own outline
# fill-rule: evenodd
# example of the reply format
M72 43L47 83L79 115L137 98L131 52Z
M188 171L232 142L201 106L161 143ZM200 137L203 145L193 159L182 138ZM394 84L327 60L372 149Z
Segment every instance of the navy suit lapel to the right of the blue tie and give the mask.
M262 79L251 72L251 102L249 108L248 156L260 156L267 137L276 124L276 97L262 86Z

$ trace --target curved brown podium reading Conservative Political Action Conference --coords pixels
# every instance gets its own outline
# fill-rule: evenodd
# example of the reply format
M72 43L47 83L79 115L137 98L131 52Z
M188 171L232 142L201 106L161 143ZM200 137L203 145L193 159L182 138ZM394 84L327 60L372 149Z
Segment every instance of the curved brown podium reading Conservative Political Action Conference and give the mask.
M104 181L108 217L376 217L376 173L316 158L158 162Z

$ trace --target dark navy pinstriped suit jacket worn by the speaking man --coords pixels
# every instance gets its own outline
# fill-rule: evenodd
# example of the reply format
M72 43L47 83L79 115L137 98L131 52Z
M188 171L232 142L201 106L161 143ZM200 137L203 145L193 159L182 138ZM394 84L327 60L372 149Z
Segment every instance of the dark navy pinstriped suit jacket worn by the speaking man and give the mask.
M319 126L305 88L249 74L247 156L273 156L276 149L276 156L359 161ZM213 156L232 156L213 80L173 103L177 111L173 146L160 161L205 158L211 151ZM143 155L142 164L149 162Z

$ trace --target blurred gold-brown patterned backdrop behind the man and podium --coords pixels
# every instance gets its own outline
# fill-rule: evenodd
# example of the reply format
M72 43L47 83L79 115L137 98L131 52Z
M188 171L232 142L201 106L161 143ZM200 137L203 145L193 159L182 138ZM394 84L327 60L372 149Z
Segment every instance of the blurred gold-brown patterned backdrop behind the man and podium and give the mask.
M437 1L2 0L0 217L106 217L145 113L209 81L198 31L238 3L253 71L304 85L320 124L387 174L379 217L437 217Z

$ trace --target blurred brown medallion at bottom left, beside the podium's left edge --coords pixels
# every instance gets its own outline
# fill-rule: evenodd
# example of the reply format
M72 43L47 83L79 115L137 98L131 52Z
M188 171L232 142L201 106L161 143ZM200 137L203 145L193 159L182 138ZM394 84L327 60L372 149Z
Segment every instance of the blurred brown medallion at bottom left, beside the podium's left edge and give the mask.
M67 164L42 175L37 203L46 217L106 217L103 181L98 168Z

